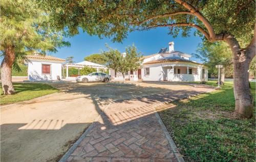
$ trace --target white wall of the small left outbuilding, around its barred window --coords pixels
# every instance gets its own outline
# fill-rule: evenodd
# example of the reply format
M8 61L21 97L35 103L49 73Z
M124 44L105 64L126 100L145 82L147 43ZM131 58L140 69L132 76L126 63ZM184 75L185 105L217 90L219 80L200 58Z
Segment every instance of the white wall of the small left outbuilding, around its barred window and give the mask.
M51 74L42 74L42 64L51 65ZM56 80L57 75L61 78L61 62L31 60L28 62L29 80Z

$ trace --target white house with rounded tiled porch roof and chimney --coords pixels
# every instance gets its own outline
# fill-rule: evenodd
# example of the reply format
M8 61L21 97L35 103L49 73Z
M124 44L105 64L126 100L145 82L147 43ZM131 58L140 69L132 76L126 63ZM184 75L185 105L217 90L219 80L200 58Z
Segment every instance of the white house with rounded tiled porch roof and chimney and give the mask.
M128 71L126 79L145 81L176 81L193 82L207 81L208 70L203 64L189 60L191 55L174 50L174 42L169 42L169 48L161 48L158 53L143 57L141 67L136 71ZM114 79L122 75L111 70Z

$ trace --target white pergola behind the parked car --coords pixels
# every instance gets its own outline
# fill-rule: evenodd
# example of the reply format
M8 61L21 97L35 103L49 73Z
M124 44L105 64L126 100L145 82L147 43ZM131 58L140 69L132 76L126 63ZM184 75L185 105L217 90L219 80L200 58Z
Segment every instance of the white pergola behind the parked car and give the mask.
M99 69L108 69L104 65L96 64L96 63L93 63L93 62L90 62L90 61L82 61L82 62L75 63L75 64L66 63L66 64L62 65L63 68L67 69L66 78L69 77L69 67L77 68L78 69L78 75L80 75L80 69L82 69L84 66L95 68L95 69L97 69L97 72L99 72Z

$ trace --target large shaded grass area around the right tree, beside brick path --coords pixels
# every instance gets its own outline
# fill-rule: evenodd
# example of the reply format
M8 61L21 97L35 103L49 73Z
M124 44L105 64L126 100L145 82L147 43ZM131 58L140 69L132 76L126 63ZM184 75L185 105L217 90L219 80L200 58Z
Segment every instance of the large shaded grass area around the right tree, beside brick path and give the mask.
M207 84L216 86L216 82ZM255 99L255 83L251 92ZM232 115L232 82L172 104L173 109L159 115L185 161L255 161L255 116L247 120Z

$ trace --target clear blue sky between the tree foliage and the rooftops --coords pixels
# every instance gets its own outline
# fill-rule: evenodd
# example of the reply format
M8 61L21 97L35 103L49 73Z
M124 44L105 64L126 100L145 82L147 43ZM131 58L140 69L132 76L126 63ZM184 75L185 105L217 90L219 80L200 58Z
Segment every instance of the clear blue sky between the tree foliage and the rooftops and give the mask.
M83 61L83 58L93 53L99 53L100 50L106 50L105 43L112 48L117 48L124 52L125 47L133 43L144 56L157 53L160 48L168 47L168 42L174 41L174 49L184 53L195 53L198 44L201 42L200 37L195 37L192 33L190 37L173 38L168 35L167 28L157 28L149 31L136 31L130 33L122 43L112 42L109 38L99 39L98 36L90 36L87 33L80 33L71 38L66 38L66 41L71 43L70 47L62 47L58 52L51 53L52 56L66 59L69 56L74 57L76 63ZM191 58L200 62L195 58Z

